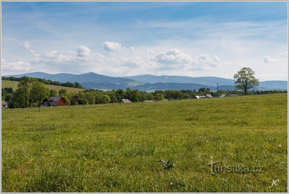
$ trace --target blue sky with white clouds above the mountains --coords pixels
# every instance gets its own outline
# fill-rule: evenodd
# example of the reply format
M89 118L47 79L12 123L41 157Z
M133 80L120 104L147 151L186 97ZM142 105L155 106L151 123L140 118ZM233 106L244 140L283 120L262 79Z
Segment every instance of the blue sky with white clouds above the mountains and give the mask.
M1 2L1 75L288 80L288 2Z

